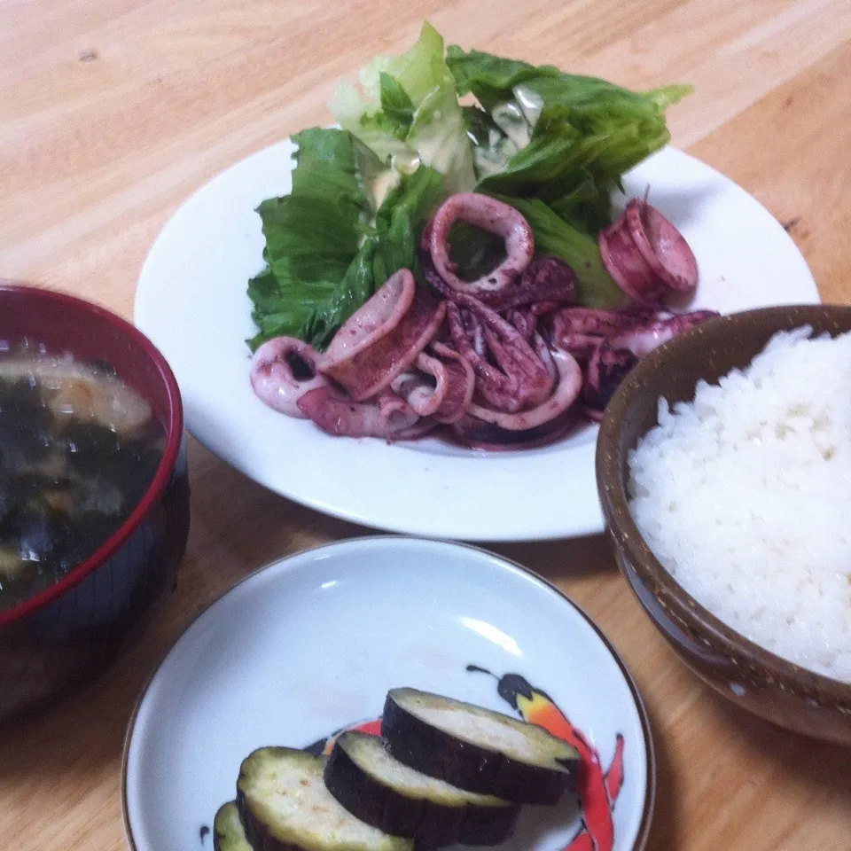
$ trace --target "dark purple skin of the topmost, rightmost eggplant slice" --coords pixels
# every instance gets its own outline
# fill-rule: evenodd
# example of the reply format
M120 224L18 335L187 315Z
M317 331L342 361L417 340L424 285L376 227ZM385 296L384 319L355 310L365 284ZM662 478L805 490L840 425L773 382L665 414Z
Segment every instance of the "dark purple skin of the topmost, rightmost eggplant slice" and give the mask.
M412 690L388 692L381 732L390 753L410 768L430 777L440 777L469 792L496 795L524 804L555 804L566 792L574 792L579 772L578 753L575 760L550 760L551 763L560 763L558 767L520 761L496 748L472 744L418 718L395 699L395 695L402 691ZM438 695L419 693L427 699L443 700ZM449 702L457 707L469 707L476 713L489 712L459 701ZM532 724L528 726L543 730ZM554 740L558 742L559 750L573 750L560 739Z

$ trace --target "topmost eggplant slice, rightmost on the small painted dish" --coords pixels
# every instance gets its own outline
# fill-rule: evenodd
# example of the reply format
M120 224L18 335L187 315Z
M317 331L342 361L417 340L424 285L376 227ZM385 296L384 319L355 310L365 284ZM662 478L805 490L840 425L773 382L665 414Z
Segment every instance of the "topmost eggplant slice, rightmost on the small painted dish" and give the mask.
M381 731L397 760L470 792L554 804L576 785L573 746L543 727L460 700L393 689Z

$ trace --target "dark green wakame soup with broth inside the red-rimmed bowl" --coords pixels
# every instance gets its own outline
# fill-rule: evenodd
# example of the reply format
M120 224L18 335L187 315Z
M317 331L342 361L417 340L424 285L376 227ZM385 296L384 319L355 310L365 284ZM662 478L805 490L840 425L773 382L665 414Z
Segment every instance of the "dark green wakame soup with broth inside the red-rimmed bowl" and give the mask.
M0 611L121 527L164 446L148 403L105 364L0 355Z

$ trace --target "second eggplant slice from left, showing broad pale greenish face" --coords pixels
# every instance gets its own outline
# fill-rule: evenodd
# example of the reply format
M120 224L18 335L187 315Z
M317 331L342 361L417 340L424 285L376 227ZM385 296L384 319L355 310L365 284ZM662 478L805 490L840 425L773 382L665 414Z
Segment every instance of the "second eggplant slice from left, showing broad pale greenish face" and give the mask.
M355 818L325 788L327 758L262 747L242 762L237 804L246 838L262 851L413 851Z

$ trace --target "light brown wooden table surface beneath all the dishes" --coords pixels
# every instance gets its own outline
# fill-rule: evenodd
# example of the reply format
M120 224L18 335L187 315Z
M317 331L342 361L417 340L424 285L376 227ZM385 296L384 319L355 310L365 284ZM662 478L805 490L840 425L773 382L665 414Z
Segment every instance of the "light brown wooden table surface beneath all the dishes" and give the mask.
M851 302L848 0L4 0L0 277L131 316L178 204L329 121L333 82L404 48L426 17L449 43L633 88L693 83L669 114L675 144L785 223L825 301ZM258 566L367 531L273 496L195 442L190 462L189 551L157 621L98 683L0 730L0 847L124 847L124 731L161 655ZM652 628L602 537L492 549L565 589L636 676L659 757L652 851L851 848L851 754L715 697Z

